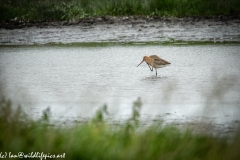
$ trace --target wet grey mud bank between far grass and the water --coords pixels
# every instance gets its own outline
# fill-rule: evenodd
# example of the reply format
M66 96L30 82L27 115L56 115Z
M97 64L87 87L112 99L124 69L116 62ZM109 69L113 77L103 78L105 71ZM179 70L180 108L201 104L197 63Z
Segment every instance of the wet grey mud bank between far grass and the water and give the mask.
M240 42L238 16L98 17L0 23L0 45L82 42Z

